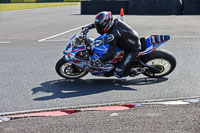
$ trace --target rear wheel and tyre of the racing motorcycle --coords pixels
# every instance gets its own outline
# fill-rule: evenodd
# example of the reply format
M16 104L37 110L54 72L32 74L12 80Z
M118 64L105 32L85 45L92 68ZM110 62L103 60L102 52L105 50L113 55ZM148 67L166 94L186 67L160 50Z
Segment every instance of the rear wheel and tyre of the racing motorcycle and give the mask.
M162 78L169 75L176 67L176 59L172 53L167 50L156 50L142 57L142 61L159 71L147 69L143 74L150 78Z

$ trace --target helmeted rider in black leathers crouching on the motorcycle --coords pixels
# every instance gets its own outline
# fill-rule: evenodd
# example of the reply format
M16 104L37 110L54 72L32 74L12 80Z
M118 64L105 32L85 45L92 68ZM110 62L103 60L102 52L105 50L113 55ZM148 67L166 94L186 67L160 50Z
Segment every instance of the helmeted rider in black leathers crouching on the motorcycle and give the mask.
M96 28L101 35L108 34L106 41L109 44L108 52L99 60L93 61L93 64L105 63L113 59L116 54L116 47L119 47L124 50L124 56L117 64L114 75L121 78L131 74L134 70L128 69L128 66L134 61L141 49L137 32L121 20L113 20L113 16L109 11L98 13L94 23L83 27L83 30L88 32L92 28Z

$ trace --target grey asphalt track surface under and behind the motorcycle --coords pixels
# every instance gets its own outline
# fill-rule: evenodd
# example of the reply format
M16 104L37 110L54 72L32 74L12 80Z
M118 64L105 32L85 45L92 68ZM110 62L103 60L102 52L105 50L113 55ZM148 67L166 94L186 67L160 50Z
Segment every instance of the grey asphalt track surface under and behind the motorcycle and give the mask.
M66 41L77 31L38 40L91 23L79 6L0 12L0 113L119 102L200 97L200 16L125 16L140 36L169 34L161 48L177 59L162 79L145 76L81 80L59 77L55 64ZM96 37L95 30L89 36Z

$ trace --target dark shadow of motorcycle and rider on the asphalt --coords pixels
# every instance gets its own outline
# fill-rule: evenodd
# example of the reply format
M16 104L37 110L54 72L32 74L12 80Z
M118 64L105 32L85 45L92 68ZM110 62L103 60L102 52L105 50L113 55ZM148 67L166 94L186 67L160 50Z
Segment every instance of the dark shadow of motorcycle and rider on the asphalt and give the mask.
M111 90L130 90L137 89L127 87L128 85L149 85L167 81L167 78L139 78L128 81L117 79L78 79L78 80L53 80L41 83L40 87L33 88L33 95L38 92L50 93L52 95L38 97L33 100L44 101L56 98L71 98L85 95L92 95Z

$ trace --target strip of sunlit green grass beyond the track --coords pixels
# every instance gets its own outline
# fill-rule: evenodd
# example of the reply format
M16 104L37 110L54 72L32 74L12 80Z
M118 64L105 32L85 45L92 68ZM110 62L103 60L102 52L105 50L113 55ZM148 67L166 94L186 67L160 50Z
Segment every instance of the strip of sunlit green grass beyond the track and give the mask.
M11 4L0 4L0 11L12 11L12 10L23 10L23 9L34 9L34 8L45 8L45 7L56 7L56 6L72 6L79 5L80 3L11 3Z

